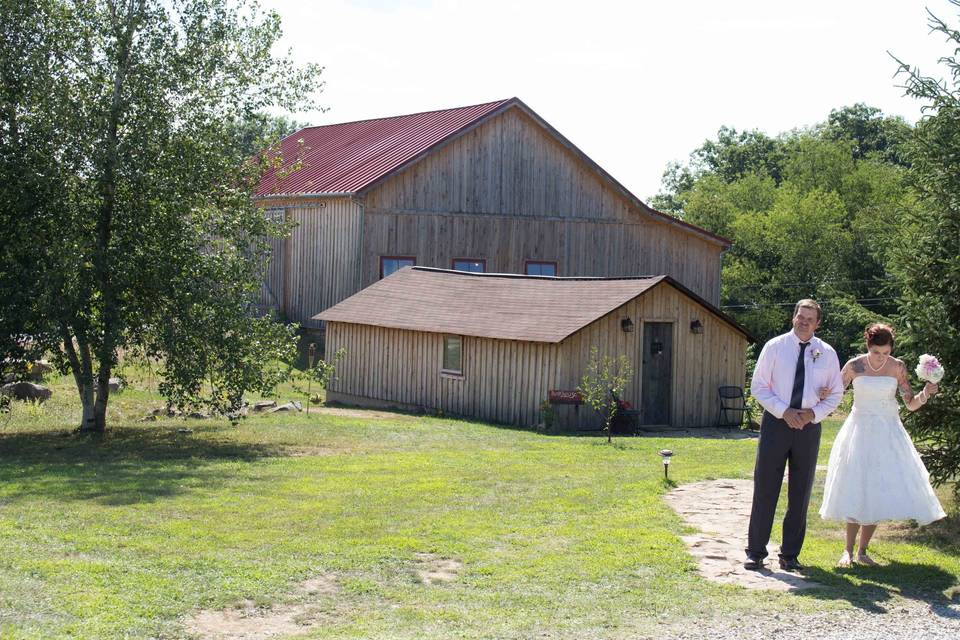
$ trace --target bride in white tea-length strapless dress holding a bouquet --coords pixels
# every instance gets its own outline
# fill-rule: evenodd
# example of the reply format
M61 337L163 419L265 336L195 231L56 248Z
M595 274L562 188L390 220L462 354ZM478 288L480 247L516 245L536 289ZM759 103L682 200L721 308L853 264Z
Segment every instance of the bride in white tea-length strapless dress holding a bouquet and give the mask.
M914 395L903 361L891 356L893 329L872 324L864 332L867 353L851 359L841 371L843 386L853 384L853 409L843 423L830 452L820 516L847 524L846 548L841 567L856 561L877 563L867 555L867 545L884 520L914 519L920 524L946 514L929 474L900 422L896 393L907 409L916 411L939 390L928 382ZM821 390L821 395L824 391Z

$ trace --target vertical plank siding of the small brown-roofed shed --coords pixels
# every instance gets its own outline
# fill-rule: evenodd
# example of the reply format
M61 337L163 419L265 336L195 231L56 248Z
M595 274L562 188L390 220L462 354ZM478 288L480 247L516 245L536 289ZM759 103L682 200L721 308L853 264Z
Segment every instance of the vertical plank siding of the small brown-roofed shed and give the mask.
M620 320L635 330L625 333ZM699 319L702 334L690 332ZM517 425L539 422L539 405L549 389L575 389L596 346L601 356L627 355L634 377L624 398L639 403L644 321L674 323L672 426L696 427L716 421L717 387L743 385L746 339L686 295L660 285L638 300L584 327L561 344L463 337L463 376L441 374L441 334L346 323L327 327L327 353L345 350L330 384L331 397L362 397ZM560 426L574 426L574 412L557 411ZM587 407L581 428L599 420Z

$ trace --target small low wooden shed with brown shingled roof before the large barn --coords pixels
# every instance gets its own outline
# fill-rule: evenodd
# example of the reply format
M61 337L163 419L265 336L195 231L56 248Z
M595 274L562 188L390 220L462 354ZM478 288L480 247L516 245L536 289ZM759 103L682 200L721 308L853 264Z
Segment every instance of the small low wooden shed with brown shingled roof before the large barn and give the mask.
M715 424L717 390L742 386L751 337L667 275L549 277L404 267L316 316L344 350L327 400L529 426L570 398L596 347L625 355L623 398L647 426ZM567 392L567 393L564 393ZM599 424L557 404L557 426Z

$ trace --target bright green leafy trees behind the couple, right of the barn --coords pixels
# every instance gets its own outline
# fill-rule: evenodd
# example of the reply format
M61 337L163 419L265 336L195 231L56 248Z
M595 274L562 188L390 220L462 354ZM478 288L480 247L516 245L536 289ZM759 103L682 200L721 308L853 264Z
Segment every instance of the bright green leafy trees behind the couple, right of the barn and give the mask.
M862 104L777 137L724 127L668 168L654 201L733 241L721 306L761 343L812 297L826 314L821 334L850 354L857 322L895 311L890 247L917 207L905 178L909 131Z

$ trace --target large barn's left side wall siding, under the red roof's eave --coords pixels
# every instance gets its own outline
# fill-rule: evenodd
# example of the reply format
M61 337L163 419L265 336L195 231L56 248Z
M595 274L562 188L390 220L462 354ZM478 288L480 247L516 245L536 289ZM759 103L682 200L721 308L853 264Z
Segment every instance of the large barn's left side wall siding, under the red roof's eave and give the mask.
M349 198L292 202L284 211L296 226L277 243L264 289L286 319L318 328L314 315L360 290L362 211Z

